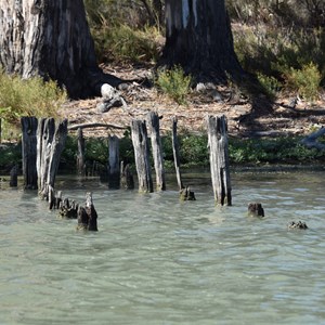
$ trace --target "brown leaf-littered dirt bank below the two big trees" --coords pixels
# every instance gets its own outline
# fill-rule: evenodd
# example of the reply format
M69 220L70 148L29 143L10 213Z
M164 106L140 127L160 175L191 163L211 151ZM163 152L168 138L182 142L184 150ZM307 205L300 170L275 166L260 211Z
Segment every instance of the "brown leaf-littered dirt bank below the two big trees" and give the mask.
M148 77L150 69L133 66L104 67L109 73L125 80ZM101 113L99 105L102 98L84 101L70 101L60 110L62 118L68 118L70 126L80 123L104 123L128 128L131 119L145 119L151 110L157 112L161 132L171 129L171 118L178 118L179 132L205 132L208 115L225 115L230 136L278 136L308 134L325 125L325 94L314 103L299 100L294 107L295 94L284 96L270 104L263 95L253 101L238 91L225 88L211 88L193 91L186 105L178 105L154 88L145 88L139 82L131 82L128 89L120 90L126 104ZM122 129L115 127L87 128L86 136L121 136Z

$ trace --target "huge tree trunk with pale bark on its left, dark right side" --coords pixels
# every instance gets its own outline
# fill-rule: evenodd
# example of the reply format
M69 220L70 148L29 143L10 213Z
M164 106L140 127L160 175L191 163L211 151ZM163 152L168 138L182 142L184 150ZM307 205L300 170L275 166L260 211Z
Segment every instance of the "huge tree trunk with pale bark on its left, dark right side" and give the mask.
M82 0L0 0L0 49L9 74L57 80L72 98L120 81L98 67Z

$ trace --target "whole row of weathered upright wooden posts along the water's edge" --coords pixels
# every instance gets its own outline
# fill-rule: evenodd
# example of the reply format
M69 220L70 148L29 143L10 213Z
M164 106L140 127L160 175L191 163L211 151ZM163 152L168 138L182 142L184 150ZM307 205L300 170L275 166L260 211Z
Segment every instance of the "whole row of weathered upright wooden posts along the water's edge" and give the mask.
M178 186L183 199L195 199L194 193L183 184L181 176L177 118L171 120L172 147ZM38 188L40 195L49 199L54 190L61 153L68 133L67 120L55 123L53 118L22 118L23 131L23 176L25 188ZM211 180L214 199L218 205L231 205L231 180L227 153L227 126L224 116L208 116L208 145L210 150ZM150 134L150 135L148 135ZM152 165L150 161L150 138L156 176L156 190L166 190L164 155L159 129L159 116L151 112L146 120L131 121L131 135L138 174L139 192L154 191ZM119 139L108 138L108 186L110 188L134 187L129 166L119 161ZM84 138L78 128L78 173L84 173Z

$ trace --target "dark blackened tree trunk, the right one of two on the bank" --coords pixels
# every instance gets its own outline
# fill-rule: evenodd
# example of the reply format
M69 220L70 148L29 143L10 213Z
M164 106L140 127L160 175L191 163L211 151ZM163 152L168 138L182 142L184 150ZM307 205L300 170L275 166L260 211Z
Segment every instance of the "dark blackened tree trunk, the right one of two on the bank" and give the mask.
M224 0L166 0L162 65L181 65L196 82L224 82L243 73Z

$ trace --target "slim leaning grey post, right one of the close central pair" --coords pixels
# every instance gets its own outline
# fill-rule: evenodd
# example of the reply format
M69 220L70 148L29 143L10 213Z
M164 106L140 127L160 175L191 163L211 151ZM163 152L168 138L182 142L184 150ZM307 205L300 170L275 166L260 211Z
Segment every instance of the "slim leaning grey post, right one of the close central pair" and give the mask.
M152 140L153 157L156 171L156 188L157 191L166 190L162 147L159 130L159 116L157 113L151 112L148 114L148 129Z

